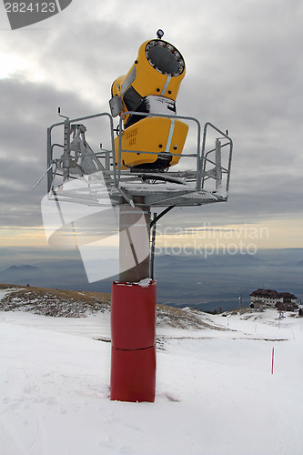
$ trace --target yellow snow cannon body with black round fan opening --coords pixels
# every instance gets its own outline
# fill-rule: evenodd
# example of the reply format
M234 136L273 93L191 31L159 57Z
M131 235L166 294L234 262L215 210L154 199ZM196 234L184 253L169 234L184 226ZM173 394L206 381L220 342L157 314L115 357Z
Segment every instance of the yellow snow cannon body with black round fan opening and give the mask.
M126 76L112 85L109 102L112 116L127 111L124 131L115 139L116 166L121 139L121 169L161 171L178 163L188 126L176 116L176 98L186 73L185 62L176 47L162 39L143 43ZM150 116L148 116L150 114ZM161 114L163 116L153 116Z

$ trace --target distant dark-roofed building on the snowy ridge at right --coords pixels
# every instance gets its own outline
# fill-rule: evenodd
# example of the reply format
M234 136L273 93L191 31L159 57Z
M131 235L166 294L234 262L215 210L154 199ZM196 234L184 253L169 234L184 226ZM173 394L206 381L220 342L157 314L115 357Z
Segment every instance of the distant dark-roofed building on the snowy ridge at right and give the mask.
M277 308L279 311L298 309L297 297L289 292L273 289L257 289L250 296L250 308Z

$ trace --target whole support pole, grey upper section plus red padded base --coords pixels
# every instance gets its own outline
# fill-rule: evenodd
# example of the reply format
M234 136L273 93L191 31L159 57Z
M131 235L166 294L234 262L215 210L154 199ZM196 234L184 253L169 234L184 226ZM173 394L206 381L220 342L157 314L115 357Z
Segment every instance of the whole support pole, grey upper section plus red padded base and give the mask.
M112 286L110 398L154 401L157 283L149 278L150 211L120 206L119 281ZM144 281L142 281L144 280Z

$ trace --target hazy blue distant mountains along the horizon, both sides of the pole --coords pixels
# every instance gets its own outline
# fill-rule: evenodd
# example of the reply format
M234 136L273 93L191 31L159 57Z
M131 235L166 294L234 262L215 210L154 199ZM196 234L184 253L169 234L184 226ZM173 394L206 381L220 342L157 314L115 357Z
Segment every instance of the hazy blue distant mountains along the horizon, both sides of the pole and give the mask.
M113 277L89 283L77 250L20 250L7 258L0 248L0 282L44 288L67 288L110 292ZM7 251L6 251L7 252ZM16 254L17 249L14 249ZM35 253L35 254L34 254ZM303 248L258 250L249 254L156 255L157 302L202 310L237 308L242 291L243 306L258 288L290 292L303 298ZM11 266L11 267L8 267ZM100 267L106 267L106 259Z

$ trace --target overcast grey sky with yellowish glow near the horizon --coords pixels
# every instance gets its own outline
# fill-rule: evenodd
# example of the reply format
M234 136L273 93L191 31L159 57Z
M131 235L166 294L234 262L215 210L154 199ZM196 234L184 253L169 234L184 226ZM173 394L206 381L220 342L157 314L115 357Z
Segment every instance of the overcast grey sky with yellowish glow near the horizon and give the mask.
M1 3L0 245L45 245L45 180L32 187L57 107L108 111L112 82L162 28L187 64L177 113L228 129L235 147L227 204L176 209L166 223L268 227L263 248L303 248L302 24L301 0L73 0L11 31Z

